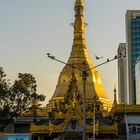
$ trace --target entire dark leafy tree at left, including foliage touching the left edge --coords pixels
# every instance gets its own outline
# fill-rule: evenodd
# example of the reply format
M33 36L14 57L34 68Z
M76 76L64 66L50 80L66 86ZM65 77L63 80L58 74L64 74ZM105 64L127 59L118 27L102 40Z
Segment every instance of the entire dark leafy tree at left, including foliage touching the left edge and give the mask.
M37 94L36 80L31 74L19 73L18 79L13 85L9 86L6 81L6 75L3 69L0 69L0 103L2 106L1 116L8 116L8 120L3 121L0 116L0 129L4 129L12 120L21 113L28 111L32 105L33 99L44 101L43 94ZM9 117L10 116L10 117Z

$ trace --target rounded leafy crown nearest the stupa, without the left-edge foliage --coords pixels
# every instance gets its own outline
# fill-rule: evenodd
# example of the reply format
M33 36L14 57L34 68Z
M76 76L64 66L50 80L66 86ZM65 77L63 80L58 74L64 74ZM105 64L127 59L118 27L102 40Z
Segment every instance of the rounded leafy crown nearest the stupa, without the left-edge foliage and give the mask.
M33 99L44 101L45 96L42 94L37 94L36 88L37 84L35 77L33 77L31 74L19 73L18 80L15 80L13 86L11 87L11 112L16 112L17 114L20 114L24 111L27 111L29 106L31 106Z

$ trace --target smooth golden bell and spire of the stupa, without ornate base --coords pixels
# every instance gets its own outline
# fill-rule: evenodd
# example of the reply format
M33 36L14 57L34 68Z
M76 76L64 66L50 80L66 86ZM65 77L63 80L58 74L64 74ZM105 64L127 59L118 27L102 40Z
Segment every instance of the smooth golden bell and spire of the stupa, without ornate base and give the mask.
M94 65L92 64L88 56L86 48L86 41L84 37L85 22L83 18L83 0L76 0L74 10L75 22L73 25L74 38L72 51L68 59L67 65L64 66L62 72L60 73L55 92L51 100L49 101L49 104L47 105L47 110L50 111L54 103L59 105L59 102L64 100L64 96L68 90L68 86L72 77L72 73L75 74L78 89L80 94L82 95L83 81L82 77L80 76L80 70L83 70L82 62L86 63L87 70L90 69L88 70L88 76L86 81L86 100L92 101L93 97L96 96L96 99L103 104L104 109L110 110L112 104L103 90L99 73L94 68ZM70 67L70 65L76 67L77 69Z

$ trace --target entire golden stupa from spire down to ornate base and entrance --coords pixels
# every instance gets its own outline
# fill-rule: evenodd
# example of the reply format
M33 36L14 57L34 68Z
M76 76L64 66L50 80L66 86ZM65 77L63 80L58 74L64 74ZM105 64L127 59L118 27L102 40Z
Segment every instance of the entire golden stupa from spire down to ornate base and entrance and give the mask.
M32 123L30 127L30 132L38 135L42 140L45 135L52 139L81 140L84 130L84 109L86 110L85 132L87 138L92 137L93 131L96 136L103 136L104 134L117 135L118 132L116 123L108 125L100 123L101 120L98 120L98 118L105 119L109 115L112 103L107 98L99 73L88 56L84 37L83 0L76 0L74 9L75 22L73 25L72 51L68 62L60 73L55 92L46 106L48 123L43 125ZM83 65L83 62L85 65ZM83 71L87 73L86 85L83 84L84 79L81 76ZM83 89L85 86L86 108L83 108L85 104L83 103L85 101L83 100Z

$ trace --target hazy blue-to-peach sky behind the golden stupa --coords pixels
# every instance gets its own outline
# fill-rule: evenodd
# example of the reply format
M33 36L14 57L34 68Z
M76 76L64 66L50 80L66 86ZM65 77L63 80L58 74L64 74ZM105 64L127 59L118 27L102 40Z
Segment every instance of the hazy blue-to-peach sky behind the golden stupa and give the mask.
M0 0L0 65L12 81L17 74L36 77L38 92L46 102L55 90L64 67L46 57L50 52L67 62L73 43L75 0ZM140 0L85 0L84 17L89 24L85 38L94 65L112 58L125 42L125 13L140 9ZM95 60L95 54L104 56ZM117 61L97 70L107 96L113 99L117 85Z

